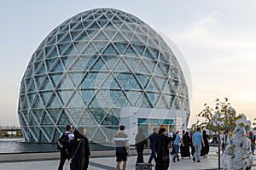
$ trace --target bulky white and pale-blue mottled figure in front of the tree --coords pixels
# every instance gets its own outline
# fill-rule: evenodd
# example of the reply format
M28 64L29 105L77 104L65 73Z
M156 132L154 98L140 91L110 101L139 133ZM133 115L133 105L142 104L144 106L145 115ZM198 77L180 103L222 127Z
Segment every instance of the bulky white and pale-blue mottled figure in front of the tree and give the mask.
M245 128L238 125L226 146L222 156L223 169L246 169L253 164L250 140L246 137Z

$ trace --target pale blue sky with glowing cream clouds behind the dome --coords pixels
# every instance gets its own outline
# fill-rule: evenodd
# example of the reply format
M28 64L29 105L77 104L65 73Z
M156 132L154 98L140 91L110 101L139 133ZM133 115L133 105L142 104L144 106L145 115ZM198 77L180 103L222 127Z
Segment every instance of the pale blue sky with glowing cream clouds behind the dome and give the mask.
M169 37L189 65L189 124L207 103L228 98L256 117L256 1L23 0L0 6L0 125L16 125L20 82L40 42L63 21L92 8L119 8Z

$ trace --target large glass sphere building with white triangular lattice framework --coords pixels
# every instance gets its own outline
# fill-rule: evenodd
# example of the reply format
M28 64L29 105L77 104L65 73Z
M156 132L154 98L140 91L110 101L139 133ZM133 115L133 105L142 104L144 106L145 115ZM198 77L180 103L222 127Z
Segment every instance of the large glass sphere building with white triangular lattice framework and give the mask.
M189 96L163 38L118 9L92 9L57 26L20 85L26 141L54 142L67 124L87 128L94 142L112 141L123 107L189 112Z

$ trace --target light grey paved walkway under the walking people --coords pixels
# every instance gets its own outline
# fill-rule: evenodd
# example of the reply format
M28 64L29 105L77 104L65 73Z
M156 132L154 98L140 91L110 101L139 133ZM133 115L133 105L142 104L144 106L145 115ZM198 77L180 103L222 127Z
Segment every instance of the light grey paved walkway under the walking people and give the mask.
M149 156L144 156L144 160L148 161ZM135 170L135 162L137 156L129 157L127 170ZM256 156L254 157L256 159ZM114 170L115 169L115 157L106 156L106 157L93 157L90 158L89 170ZM255 160L254 160L255 163ZM19 161L19 162L3 162L0 163L0 170L55 170L57 169L59 160L50 160L50 161ZM256 164L256 163L255 163ZM154 168L153 168L154 169ZM192 161L192 159L182 159L181 161L171 162L169 169L178 169L178 170L196 170L196 169L208 169L208 170L217 170L218 169L218 155L215 150L212 150L209 153L207 158L201 158L201 162L197 163ZM256 167L253 166L253 170L256 170ZM69 170L68 162L65 163L64 170Z

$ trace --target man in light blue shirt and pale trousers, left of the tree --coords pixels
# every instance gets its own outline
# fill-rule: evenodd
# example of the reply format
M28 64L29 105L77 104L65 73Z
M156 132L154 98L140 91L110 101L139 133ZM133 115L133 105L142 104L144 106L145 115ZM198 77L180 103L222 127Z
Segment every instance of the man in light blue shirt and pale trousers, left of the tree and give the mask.
M195 154L193 156L193 161L195 161L195 157L196 157L197 162L201 162L200 161L201 144L203 144L203 147L205 147L205 142L201 135L201 127L197 127L196 132L193 134L192 143L193 143L193 146L195 147Z

